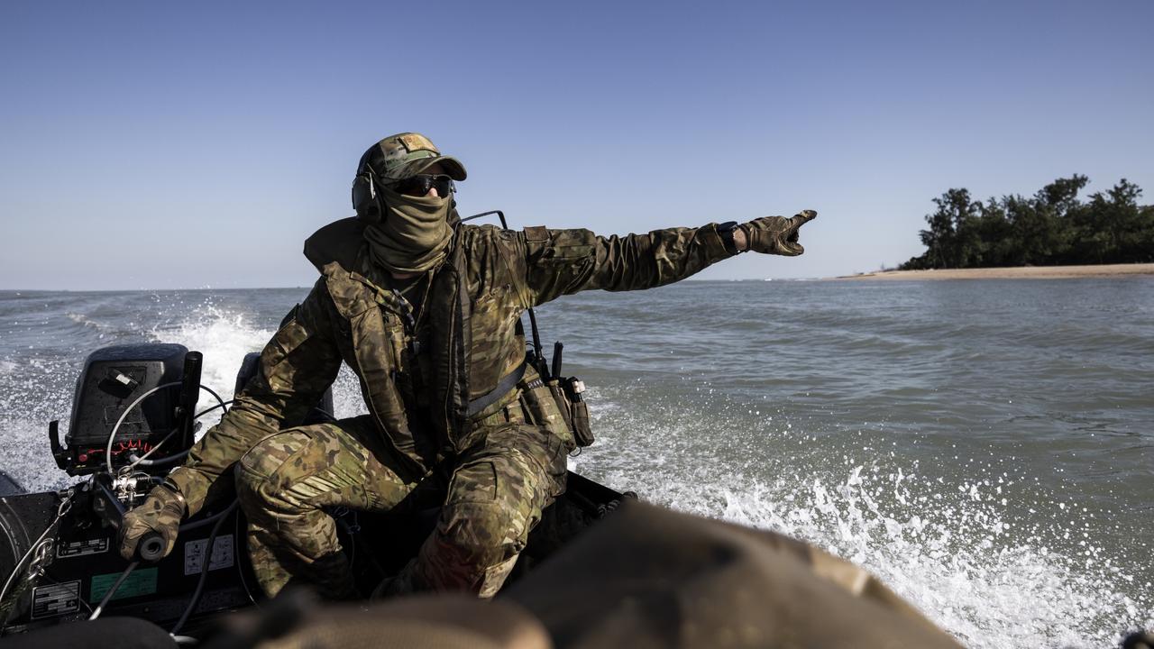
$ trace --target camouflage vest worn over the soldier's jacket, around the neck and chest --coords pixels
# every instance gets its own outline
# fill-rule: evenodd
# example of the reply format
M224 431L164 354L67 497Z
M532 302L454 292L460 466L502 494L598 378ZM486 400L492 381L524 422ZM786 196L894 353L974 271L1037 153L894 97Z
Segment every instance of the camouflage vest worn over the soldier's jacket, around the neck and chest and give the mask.
M415 360L406 349L407 336L396 297L382 285L385 283L369 260L367 245L361 236L365 224L346 218L319 230L305 243L305 255L324 277L338 319L337 344L345 363L360 379L361 393L381 432L391 446L404 456L414 470L424 470L442 457L455 454L472 432L470 411L472 306L469 290L466 260L466 226L458 226L445 263L430 278L429 292L422 307L428 322L422 367L421 388L432 394L429 408L422 415L426 422L411 422L406 412L398 375L402 366L413 366ZM493 256L501 256L500 254ZM510 286L512 273L508 263L490 264ZM374 281L376 278L377 281ZM492 279L492 277L490 277ZM501 285L501 281L489 284ZM481 303L484 305L485 301ZM485 315L485 314L482 314ZM487 316L487 315L486 315ZM502 320L503 322L503 320ZM504 327L512 327L510 321ZM415 333L413 333L415 335ZM504 333L494 344L486 344L482 355L485 367L478 367L478 387L485 391L499 387L500 378L508 375L524 355L524 338ZM493 348L493 349L488 349ZM404 360L403 360L404 359ZM511 386L510 386L511 387ZM511 393L510 389L505 389ZM473 395L477 396L475 394ZM496 395L501 397L503 395ZM474 402L477 400L474 398ZM501 398L492 403L500 405ZM424 430L425 426L432 430Z

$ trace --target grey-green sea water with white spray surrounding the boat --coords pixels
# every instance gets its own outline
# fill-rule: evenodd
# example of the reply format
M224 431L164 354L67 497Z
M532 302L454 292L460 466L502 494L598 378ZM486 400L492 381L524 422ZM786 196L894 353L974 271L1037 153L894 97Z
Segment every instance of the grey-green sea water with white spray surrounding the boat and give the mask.
M0 292L0 469L69 483L47 422L92 350L181 343L230 395L306 292ZM684 282L539 320L593 479L815 543L968 647L1154 627L1154 278ZM365 411L347 371L335 397Z

